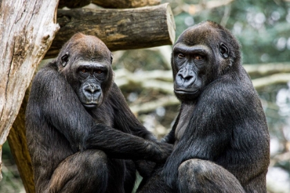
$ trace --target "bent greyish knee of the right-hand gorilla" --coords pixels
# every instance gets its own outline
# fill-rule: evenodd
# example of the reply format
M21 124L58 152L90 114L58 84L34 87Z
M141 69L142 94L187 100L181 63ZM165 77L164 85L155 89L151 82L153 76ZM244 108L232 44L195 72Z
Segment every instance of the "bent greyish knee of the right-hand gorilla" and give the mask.
M244 193L238 179L211 161L190 159L178 167L179 192Z

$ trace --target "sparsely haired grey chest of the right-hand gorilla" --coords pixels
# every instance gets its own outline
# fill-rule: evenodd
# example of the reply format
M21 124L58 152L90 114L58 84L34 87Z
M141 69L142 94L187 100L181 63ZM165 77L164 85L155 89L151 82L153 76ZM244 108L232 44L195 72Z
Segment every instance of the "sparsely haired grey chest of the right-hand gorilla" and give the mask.
M180 121L177 124L177 127L175 129L175 144L177 144L180 139L182 139L182 136L184 135L184 132L187 128L187 125L189 125L189 121L191 120L191 116L193 114L194 105L182 105L182 111L180 113Z

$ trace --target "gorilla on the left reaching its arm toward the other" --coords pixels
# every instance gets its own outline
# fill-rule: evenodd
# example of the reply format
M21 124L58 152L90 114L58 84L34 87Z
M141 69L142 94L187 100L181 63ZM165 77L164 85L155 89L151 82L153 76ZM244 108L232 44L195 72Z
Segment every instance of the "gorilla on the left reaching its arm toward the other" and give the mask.
M132 160L172 152L128 108L111 63L102 41L79 33L37 73L26 110L37 192L132 192Z

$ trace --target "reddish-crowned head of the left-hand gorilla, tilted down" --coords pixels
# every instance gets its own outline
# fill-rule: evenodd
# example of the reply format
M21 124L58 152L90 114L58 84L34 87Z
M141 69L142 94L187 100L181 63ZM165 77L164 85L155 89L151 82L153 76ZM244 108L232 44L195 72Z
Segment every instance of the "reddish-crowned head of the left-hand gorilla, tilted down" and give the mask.
M77 34L59 54L59 72L85 108L97 108L113 81L112 54L97 37Z

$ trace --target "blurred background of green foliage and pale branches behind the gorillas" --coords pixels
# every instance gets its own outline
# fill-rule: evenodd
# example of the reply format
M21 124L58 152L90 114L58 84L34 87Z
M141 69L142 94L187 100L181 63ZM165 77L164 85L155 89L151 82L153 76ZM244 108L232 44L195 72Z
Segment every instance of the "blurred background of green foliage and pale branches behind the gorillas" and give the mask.
M189 26L209 19L231 30L240 41L244 68L260 94L271 134L267 189L289 193L290 0L162 0L167 2L175 16L176 39ZM171 130L180 106L173 94L171 46L113 55L115 82L131 110L161 138ZM7 142L2 161L0 192L25 192Z

